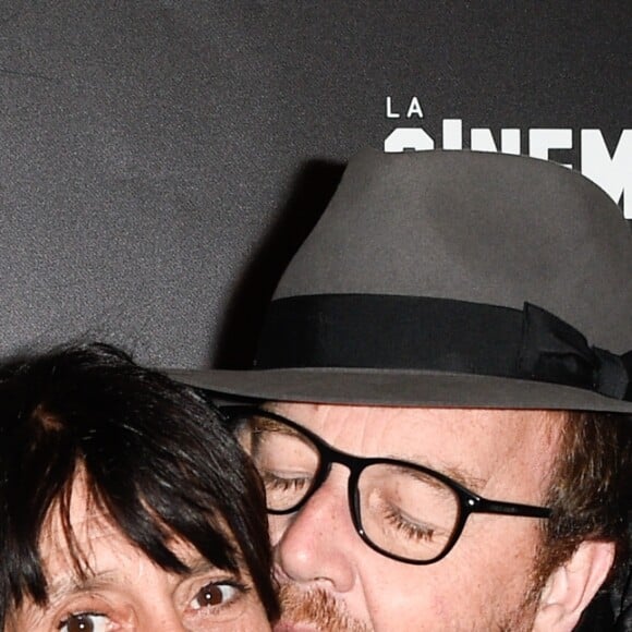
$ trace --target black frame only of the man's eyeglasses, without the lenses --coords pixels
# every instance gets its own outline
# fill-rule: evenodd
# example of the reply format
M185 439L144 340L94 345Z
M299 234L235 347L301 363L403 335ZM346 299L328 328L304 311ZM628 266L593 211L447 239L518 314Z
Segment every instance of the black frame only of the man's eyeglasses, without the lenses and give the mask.
M224 405L220 406L220 412L224 416L227 422L234 423L235 421L245 422L247 418L252 418L253 416L266 417L269 418L278 424L282 424L292 428L299 436L303 436L307 438L316 449L318 453L318 466L314 472L314 478L309 488L305 493L305 496L294 506L290 507L289 509L281 509L275 510L270 509L267 506L266 501L266 509L268 513L272 515L288 515L290 513L295 513L300 511L312 498L312 496L320 488L320 486L325 483L329 473L331 472L331 465L333 463L339 463L340 465L344 465L349 470L349 482L347 487L348 494L348 503L349 510L351 514L351 520L353 522L353 526L356 533L360 535L362 540L370 547L373 550L377 551L385 557L390 559L408 563L414 566L427 566L438 562L439 560L443 559L454 547L461 534L463 533L463 528L465 527L465 523L467 519L473 513L488 513L488 514L496 514L496 515L513 515L519 518L538 518L538 519L549 519L552 515L552 509L549 507L540 507L537 505L525 505L522 502L507 502L505 500L490 500L485 498L474 491L467 489L465 486L461 485L450 476L442 474L441 472L437 472L436 470L432 470L430 467L426 467L420 463L414 463L411 461L404 461L400 459L391 459L387 457L357 457L355 454L350 454L349 452L343 452L342 450L338 450L333 446L330 446L327 441L321 439L315 433L308 430L307 428L301 426L296 422L283 417L277 413L268 411L266 409L262 409L255 405ZM362 472L369 467L370 465L393 465L400 467L406 467L414 470L416 472L422 472L423 474L435 478L446 485L449 489L452 490L454 496L458 499L459 508L457 513L457 520L454 523L454 527L450 538L441 552L434 558L428 560L416 560L404 558L398 556L397 554L392 554L388 550L382 549L378 545L376 545L372 539L366 535L362 526L362 511L360 508L360 489L358 489L358 481Z

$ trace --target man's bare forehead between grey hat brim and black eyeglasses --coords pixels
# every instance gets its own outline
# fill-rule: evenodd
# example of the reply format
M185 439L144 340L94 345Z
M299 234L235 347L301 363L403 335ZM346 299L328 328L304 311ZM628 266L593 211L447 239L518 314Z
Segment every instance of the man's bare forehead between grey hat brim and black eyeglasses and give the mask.
M402 458L429 466L471 463L475 475L502 459L548 470L568 415L559 411L294 402L275 402L266 408L342 450ZM481 467L476 467L477 461Z

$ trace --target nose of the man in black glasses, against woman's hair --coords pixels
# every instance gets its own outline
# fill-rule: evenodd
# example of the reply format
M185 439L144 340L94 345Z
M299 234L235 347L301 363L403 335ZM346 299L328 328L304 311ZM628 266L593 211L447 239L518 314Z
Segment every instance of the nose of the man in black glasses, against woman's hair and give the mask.
M329 584L341 593L353 587L353 551L364 545L351 520L347 474L333 467L300 511L270 516L281 581Z

